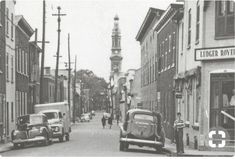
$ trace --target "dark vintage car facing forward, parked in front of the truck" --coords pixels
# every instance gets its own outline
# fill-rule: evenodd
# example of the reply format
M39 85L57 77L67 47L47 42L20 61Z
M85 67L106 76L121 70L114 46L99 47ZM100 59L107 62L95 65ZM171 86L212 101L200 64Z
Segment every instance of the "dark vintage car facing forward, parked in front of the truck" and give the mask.
M48 145L52 142L52 130L43 114L30 114L17 118L17 129L11 132L14 148L29 143Z

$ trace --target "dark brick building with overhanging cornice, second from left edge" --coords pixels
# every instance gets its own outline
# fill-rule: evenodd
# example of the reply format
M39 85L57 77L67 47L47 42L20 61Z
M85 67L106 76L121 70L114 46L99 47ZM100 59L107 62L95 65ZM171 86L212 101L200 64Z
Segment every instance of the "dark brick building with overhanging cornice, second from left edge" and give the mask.
M29 107L29 50L30 37L34 30L22 15L15 16L15 47L16 47L16 117L28 114Z

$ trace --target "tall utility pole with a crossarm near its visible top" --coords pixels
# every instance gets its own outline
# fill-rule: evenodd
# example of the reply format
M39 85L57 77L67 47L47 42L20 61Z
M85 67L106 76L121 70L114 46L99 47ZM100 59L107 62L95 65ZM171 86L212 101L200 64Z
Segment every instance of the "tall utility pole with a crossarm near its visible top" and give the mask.
M60 58L60 32L61 32L61 29L60 29L60 22L61 22L61 16L66 16L66 14L61 14L60 13L60 6L57 7L57 10L58 10L58 14L52 14L52 16L57 16L58 19L58 43L57 43L57 53L56 53L56 70L55 70L55 94L54 94L54 99L55 99L55 102L57 102L57 89L58 89L58 85L57 85L57 80L58 80L58 68L59 68L59 58Z

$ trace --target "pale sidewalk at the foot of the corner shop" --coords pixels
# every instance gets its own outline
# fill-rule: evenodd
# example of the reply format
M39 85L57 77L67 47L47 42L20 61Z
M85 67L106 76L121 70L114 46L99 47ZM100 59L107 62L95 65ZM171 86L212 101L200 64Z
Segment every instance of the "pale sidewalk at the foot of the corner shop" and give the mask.
M169 139L166 138L164 149L170 153L170 156L197 156L197 157L232 157L234 152L225 151L199 151L192 148L185 147L184 154L177 155L175 143L171 143Z

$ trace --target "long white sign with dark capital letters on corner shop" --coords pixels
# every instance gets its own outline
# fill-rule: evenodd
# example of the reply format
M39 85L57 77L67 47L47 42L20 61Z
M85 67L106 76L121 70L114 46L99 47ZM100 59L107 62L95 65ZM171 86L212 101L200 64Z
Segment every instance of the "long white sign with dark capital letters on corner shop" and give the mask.
M195 61L235 59L235 46L195 49Z

